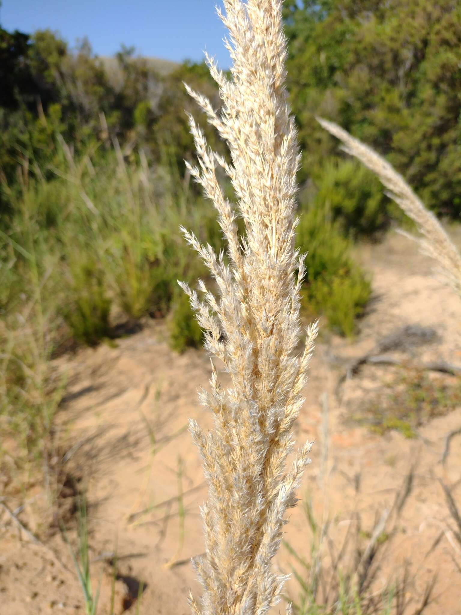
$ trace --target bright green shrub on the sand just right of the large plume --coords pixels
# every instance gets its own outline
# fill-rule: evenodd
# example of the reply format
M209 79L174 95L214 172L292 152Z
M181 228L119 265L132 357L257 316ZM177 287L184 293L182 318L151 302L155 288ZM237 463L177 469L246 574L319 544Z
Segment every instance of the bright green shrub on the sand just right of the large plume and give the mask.
M297 229L297 245L308 252L302 297L306 309L324 314L329 325L352 336L355 319L369 300L371 285L350 256L350 240L339 223L323 218L317 208L305 211Z

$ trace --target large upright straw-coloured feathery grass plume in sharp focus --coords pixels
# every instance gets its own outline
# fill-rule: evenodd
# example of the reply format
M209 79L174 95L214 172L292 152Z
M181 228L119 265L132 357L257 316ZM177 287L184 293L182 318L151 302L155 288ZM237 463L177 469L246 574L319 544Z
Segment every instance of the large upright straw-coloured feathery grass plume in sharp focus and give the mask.
M189 118L199 167L188 168L218 210L229 263L182 228L215 278L218 295L202 280L202 298L181 286L207 331L206 349L223 362L232 380L223 391L212 361L211 391L200 392L199 399L213 413L215 427L205 434L190 422L209 489L202 508L206 556L194 561L202 605L191 597L191 606L195 615L262 615L280 600L286 577L272 570L271 560L280 546L286 509L296 504L310 461L307 443L291 469L285 466L317 323L307 330L305 350L297 357L304 256L294 248L299 153L284 86L282 1L224 0L224 7L226 14L218 14L230 33L225 44L231 77L207 55L221 113L187 88L232 157L227 164L210 151ZM218 165L232 181L236 207L219 186ZM237 234L237 213L245 225L243 237Z

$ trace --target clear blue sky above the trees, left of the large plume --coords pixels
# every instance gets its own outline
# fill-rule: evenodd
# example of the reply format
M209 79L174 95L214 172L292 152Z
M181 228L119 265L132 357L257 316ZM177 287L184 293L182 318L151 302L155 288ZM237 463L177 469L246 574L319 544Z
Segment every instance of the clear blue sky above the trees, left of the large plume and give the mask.
M207 49L227 68L215 4L220 0L1 0L0 25L27 33L50 28L71 45L87 36L98 55L124 43L141 55L200 61Z

